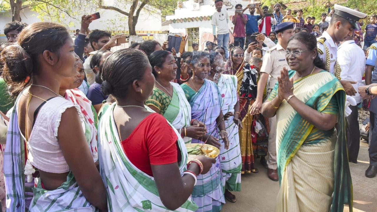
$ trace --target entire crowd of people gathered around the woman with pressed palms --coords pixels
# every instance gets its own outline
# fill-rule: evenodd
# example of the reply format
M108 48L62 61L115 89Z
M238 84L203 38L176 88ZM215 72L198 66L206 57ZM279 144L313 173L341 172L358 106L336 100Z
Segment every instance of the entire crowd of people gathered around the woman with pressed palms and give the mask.
M217 45L193 44L179 57L155 40L112 52L123 35L81 33L90 15L74 39L56 23L8 23L2 211L216 212L237 201L256 160L280 183L275 211L352 209L362 100L371 112L365 175L377 173L375 16L363 40L366 14L340 5L318 24L302 10L283 16L279 4L273 15L236 5L229 45L222 0L215 7ZM220 154L189 158L189 143Z

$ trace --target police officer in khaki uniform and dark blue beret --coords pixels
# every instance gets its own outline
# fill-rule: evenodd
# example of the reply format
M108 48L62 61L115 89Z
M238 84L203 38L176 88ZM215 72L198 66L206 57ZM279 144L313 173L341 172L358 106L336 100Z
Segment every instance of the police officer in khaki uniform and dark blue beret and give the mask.
M288 39L293 36L293 22L283 22L276 26L275 33L277 37L277 45L269 49L263 58L261 76L257 86L257 98L251 106L250 114L259 114L263 103L263 92L266 87L267 80L267 96L270 95L272 89L277 83L277 77L280 76L280 71L283 68L289 70L287 60L285 59L285 49L288 45ZM273 181L279 181L277 175L276 162L276 116L269 118L270 134L268 135L268 177Z

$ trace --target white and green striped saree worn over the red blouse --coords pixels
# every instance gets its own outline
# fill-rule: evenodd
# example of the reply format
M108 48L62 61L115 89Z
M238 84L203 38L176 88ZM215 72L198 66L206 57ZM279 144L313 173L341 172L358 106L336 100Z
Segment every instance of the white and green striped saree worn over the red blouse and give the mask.
M140 171L124 153L114 122L114 107L115 103L104 112L98 126L98 160L107 190L109 211L170 211L162 204L153 177ZM147 106L146 109L153 112ZM177 134L178 146L181 149L182 160L178 165L182 173L187 164L187 150L178 132L173 126L172 128ZM189 212L197 208L189 198L175 211Z

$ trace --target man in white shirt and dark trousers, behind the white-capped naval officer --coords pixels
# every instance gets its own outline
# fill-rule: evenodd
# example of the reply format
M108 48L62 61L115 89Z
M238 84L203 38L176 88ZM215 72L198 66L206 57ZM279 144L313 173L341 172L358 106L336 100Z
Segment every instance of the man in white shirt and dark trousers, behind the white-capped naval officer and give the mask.
M345 41L340 42L338 48L338 62L342 72L340 77L342 80L357 81L353 84L354 89L357 91L359 84L362 83L362 77L365 68L365 54L363 50L356 45L353 40L353 36L348 37ZM347 130L347 147L348 147L348 160L351 163L357 163L357 155L360 149L360 129L358 120L358 106L362 101L360 94L356 93L354 96L347 96L356 100L356 105L349 105L351 114L348 115L348 127Z

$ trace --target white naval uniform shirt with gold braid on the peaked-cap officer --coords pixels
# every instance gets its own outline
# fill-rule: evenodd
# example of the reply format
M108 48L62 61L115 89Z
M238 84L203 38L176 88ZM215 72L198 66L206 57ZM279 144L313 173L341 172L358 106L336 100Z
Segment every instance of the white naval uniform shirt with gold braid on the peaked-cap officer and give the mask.
M333 41L333 38L331 38L331 36L326 31L323 32L322 36L317 38L317 40L319 40L322 37L326 38L325 45L329 49L329 54L330 54L330 57L329 57L330 58L330 70L327 70L327 71L329 71L331 74L334 74L334 66L335 66L335 62L336 62L336 59L337 59L338 46ZM325 46L323 46L323 44L321 44L321 43L317 43L317 48L318 48L319 57L326 64Z

